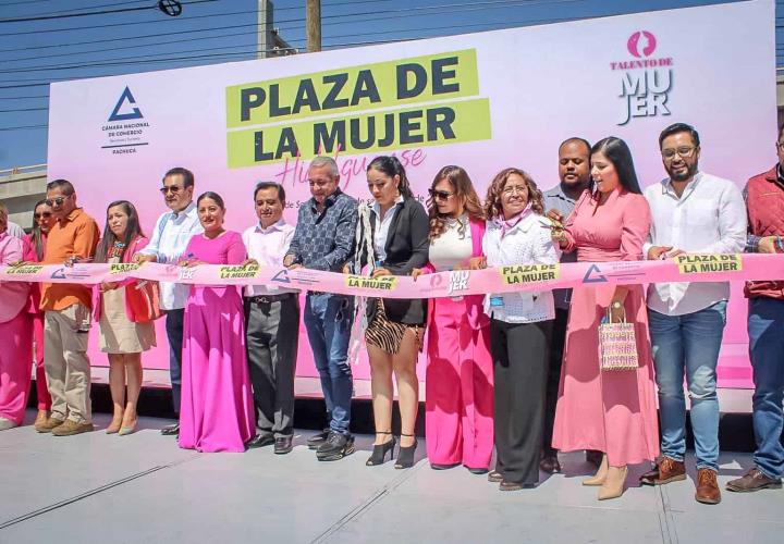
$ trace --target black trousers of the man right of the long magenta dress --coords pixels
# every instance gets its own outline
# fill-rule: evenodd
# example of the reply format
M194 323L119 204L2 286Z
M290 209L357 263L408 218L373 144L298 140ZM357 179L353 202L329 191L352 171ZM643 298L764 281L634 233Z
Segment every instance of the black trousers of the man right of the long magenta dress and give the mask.
M267 302L246 299L245 334L258 433L292 436L299 341L297 296Z

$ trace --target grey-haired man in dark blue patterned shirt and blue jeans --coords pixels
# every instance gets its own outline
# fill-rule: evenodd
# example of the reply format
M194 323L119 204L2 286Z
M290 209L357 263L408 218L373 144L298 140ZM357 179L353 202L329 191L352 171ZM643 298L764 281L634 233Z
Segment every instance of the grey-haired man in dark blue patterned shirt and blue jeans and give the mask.
M299 208L284 265L340 272L353 257L357 201L341 191L339 182L334 160L329 157L313 160L308 169L313 198ZM316 449L321 461L338 460L354 452L354 437L348 432L354 383L347 361L353 321L353 297L308 292L305 329L329 420L329 428L311 436L308 446Z

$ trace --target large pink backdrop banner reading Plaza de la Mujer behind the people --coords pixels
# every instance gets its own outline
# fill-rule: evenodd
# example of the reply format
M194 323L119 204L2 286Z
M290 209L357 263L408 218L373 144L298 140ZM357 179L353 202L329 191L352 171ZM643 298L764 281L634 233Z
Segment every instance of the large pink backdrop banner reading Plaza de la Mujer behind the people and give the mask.
M425 201L446 164L464 166L480 195L506 166L550 188L562 140L614 135L650 185L665 176L659 133L686 122L700 132L700 168L743 186L776 160L774 21L774 2L754 0L56 83L48 175L72 181L101 227L107 205L128 199L150 233L166 211L163 173L186 166L196 193L220 193L226 226L242 231L261 180L284 185L294 222L319 153L365 200L366 164L395 153ZM749 385L740 287L723 386ZM168 367L162 327L158 337L147 368ZM316 375L304 334L299 353L298 375ZM106 364L95 348L91 360Z

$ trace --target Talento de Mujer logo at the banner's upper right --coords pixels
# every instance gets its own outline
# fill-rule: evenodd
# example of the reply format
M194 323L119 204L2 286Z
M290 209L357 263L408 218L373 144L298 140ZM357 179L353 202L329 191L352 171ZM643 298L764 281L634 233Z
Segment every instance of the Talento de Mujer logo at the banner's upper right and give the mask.
M634 60L611 62L613 71L624 71L621 79L621 95L624 100L624 116L620 126L635 118L670 115L670 91L673 81L672 57L651 57L658 40L653 33L637 30L626 40L626 50Z

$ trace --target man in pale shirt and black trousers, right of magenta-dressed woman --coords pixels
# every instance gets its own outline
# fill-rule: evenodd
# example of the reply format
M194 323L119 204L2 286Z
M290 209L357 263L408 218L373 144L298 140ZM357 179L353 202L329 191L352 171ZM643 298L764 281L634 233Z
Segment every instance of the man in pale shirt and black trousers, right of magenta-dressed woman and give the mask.
M277 183L261 182L256 185L254 203L258 223L243 233L246 263L282 268L294 236L294 226L283 220L285 190ZM287 454L294 437L298 292L277 285L248 285L245 334L257 428L248 447L274 444L275 454Z

